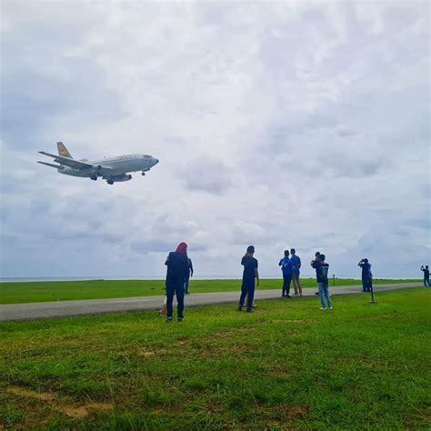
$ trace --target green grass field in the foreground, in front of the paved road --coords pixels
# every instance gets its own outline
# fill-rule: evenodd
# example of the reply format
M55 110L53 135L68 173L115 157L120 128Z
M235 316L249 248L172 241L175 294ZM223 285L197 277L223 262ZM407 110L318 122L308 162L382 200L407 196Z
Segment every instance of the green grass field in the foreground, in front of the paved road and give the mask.
M9 429L430 429L431 290L2 323Z

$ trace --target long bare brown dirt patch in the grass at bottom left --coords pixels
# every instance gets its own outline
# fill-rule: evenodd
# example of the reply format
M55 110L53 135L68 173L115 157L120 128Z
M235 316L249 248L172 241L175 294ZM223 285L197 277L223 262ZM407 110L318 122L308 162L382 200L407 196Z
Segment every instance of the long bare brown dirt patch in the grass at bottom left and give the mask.
M34 398L44 401L45 404L50 406L52 409L57 410L69 417L85 417L95 412L107 412L113 409L113 406L105 403L88 403L85 406L72 406L55 401L55 396L49 392L36 392L25 387L20 386L9 386L6 387L5 392L7 394L13 394L17 396L25 396L26 398Z

